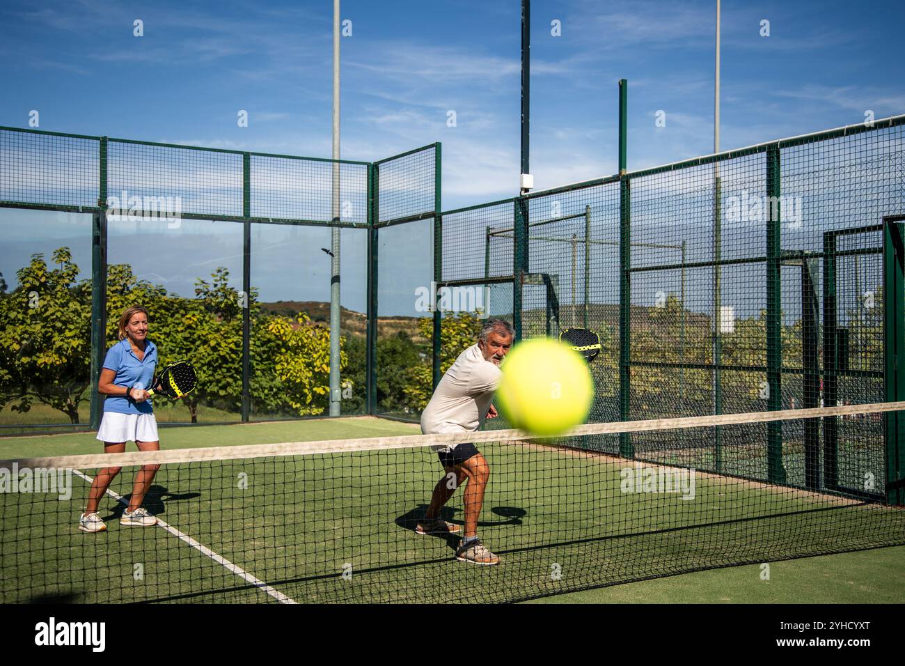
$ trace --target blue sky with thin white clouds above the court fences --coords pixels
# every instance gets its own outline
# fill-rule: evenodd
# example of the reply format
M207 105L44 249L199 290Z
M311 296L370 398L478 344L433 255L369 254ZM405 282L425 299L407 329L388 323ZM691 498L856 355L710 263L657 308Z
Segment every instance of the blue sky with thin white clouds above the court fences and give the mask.
M345 0L342 156L439 140L443 208L516 194L519 6ZM714 6L532 3L536 188L616 171L620 78L629 169L712 151ZM723 150L905 111L900 2L727 0L722 18ZM43 130L329 156L331 30L327 1L5 4L0 124L27 127L37 110Z

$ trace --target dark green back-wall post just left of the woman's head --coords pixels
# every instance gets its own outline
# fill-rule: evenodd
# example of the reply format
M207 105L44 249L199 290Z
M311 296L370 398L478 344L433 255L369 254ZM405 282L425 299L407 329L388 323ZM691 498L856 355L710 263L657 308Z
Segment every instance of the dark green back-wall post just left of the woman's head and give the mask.
M100 138L100 182L98 207L91 216L91 365L90 407L91 430L100 428L104 401L97 391L100 368L104 362L107 340L107 137Z

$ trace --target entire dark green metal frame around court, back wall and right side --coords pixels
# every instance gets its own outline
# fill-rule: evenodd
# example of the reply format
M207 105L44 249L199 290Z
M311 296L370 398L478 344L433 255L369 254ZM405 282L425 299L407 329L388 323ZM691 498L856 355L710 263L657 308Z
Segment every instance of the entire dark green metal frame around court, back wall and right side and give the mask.
M719 166L719 163L729 159L735 159L743 156L760 155L764 156L765 168L765 185L767 197L775 197L779 200L781 195L781 159L782 150L795 146L801 146L807 143L832 140L835 138L880 130L884 128L896 127L905 124L905 116L900 116L884 121L877 121L872 127L852 126L840 130L828 130L818 132L804 137L796 137L793 139L772 141L757 146L751 146L740 150L732 150L718 155L710 155L696 159L684 160L671 165L665 165L655 169L643 169L639 171L629 172L627 170L627 83L620 82L620 141L619 141L619 173L615 176L602 179L591 179L573 185L564 186L562 188L554 188L531 192L521 197L506 198L488 204L480 204L472 207L458 208L451 211L442 212L441 204L441 187L442 187L442 171L441 171L441 146L439 143L429 144L422 148L409 150L391 158L381 159L373 163L356 162L351 160L340 160L343 163L367 165L367 222L366 223L342 223L341 227L357 227L367 229L367 355L366 355L366 375L367 375L367 413L378 413L378 405L376 401L376 374L377 374L377 356L376 356L376 340L377 340L377 313L378 313L378 234L380 227L390 227L418 220L433 219L433 281L439 285L487 285L495 283L511 283L513 285L513 318L517 332L517 337L522 336L522 290L526 284L526 276L529 273L529 230L532 227L545 224L550 220L541 220L532 224L529 219L529 203L532 198L547 197L551 194L576 192L583 188L593 188L604 184L619 183L619 413L620 418L629 420L631 417L631 372L633 366L638 367L680 367L682 369L698 369L714 372L715 387L715 404L714 413L720 413L722 409L721 396L719 390L719 373L724 370L744 370L748 372L765 372L769 387L768 405L770 410L781 409L782 395L782 377L784 374L801 374L805 385L805 395L808 396L808 402L804 407L816 406L816 397L819 395L819 383L821 379L824 381L824 403L835 404L838 391L838 378L843 375L861 376L861 377L885 377L886 400L899 401L905 398L905 346L902 333L902 317L905 315L905 270L903 270L902 250L902 223L905 217L885 217L882 225L873 225L858 227L853 229L834 230L824 234L823 253L795 253L783 252L781 248L781 211L778 207L770 207L770 215L767 220L766 228L766 256L745 257L737 259L723 259L719 246L715 248L715 255L712 260L698 261L694 263L686 263L684 260L681 264L666 265L645 265L643 267L633 268L631 265L631 190L632 179L643 178L655 174L670 172L679 169L687 169L692 167L700 167L702 165L712 164ZM10 129L10 128L0 128ZM210 150L213 152L224 152L242 155L243 159L243 215L242 216L206 216L206 215L185 215L186 218L197 218L205 220L224 220L236 221L243 223L243 290L248 293L250 290L248 275L250 273L250 232L251 225L254 223L272 223L272 224L292 224L292 225L311 225L326 227L330 226L329 222L319 220L302 220L302 219L271 219L271 218L255 218L251 217L250 206L250 170L252 156L260 155L263 157L277 157L287 159L306 159L296 156L271 155L267 153L251 153L240 152L234 150L218 150L203 149L195 147L177 146L174 144L158 144L147 141L130 141L130 140L114 140L105 137L90 137L75 134L63 134L59 132L43 132L41 130L15 130L28 131L38 134L56 135L63 137L71 137L86 140L97 140L99 142L99 192L100 201L96 207L79 207L79 206L56 206L46 204L32 204L22 201L0 201L0 206L7 208L35 208L48 210L62 210L71 212L91 213L92 214L92 283L96 287L92 291L91 302L91 379L97 381L100 374L100 363L103 358L102 341L104 340L104 331L106 322L104 321L105 308L105 266L107 252L107 218L106 218L106 194L107 194L107 153L110 141L120 141L126 143L138 143L142 145L162 146L177 148L180 150ZM434 155L434 197L433 210L425 210L413 215L405 217L397 217L394 219L380 220L379 218L379 184L380 184L380 168L381 165L392 159L404 158L413 155L421 150L435 150ZM317 161L332 161L329 159L317 159ZM715 196L719 198L720 183L719 172L716 174ZM512 275L503 275L490 277L490 266L486 265L489 261L485 256L485 275L481 279L476 277L468 280L443 281L443 220L444 217L450 217L456 213L468 212L491 206L511 205L512 206L512 253L513 253L513 271ZM720 212L719 205L715 207L714 229L719 237L720 228ZM861 248L840 252L837 250L836 240L839 236L862 233L883 231L884 246L880 248ZM499 231L499 230L498 230ZM485 245L491 235L491 230L487 230L487 238ZM589 251L590 243L586 243L586 252ZM837 325L836 314L836 260L841 256L850 256L854 254L878 254L883 252L884 265L884 299L885 299L885 322L884 322L884 344L886 367L884 372L863 371L858 369L849 369L845 366L843 354L840 353L841 345L844 337L843 332ZM821 371L819 367L819 359L814 354L816 348L817 336L820 334L821 326L819 322L819 311L816 303L816 286L815 281L818 279L817 262L823 260L823 309L824 309L824 369ZM691 268L712 267L714 271L714 286L717 290L718 298L715 303L719 304L719 272L723 266L741 265L741 264L757 264L767 266L767 364L766 366L739 366L736 364L723 363L720 358L719 351L719 324L716 323L715 331L715 348L714 358L711 363L668 363L668 362L633 362L631 358L631 278L634 272L656 271L667 268L682 270ZM802 368L786 368L783 366L782 347L781 347L781 272L784 266L798 266L802 271L802 305L803 305L803 344L806 349L803 350L803 367ZM587 284L587 281L586 281ZM549 301L549 299L548 299ZM715 313L715 319L719 319L719 311ZM441 345L441 313L435 309L433 313L433 363L432 374L433 383L436 384L440 379L440 345ZM249 317L247 311L243 312L243 420L248 420L250 412L250 401L248 400L248 381L247 377L250 372L250 353L249 353ZM98 343L100 341L100 344ZM100 420L100 400L95 396L91 402L91 420L95 425ZM807 476L805 478L805 487L818 489L824 488L829 491L838 491L846 495L857 495L856 489L849 487L840 487L837 470L837 439L838 427L836 420L824 419L824 466L818 468L815 461L819 460L820 451L818 435L819 425L817 422L805 423L805 458L807 461ZM897 413L891 413L886 417L886 496L885 500L891 504L902 504L905 499L905 487L903 487L903 476L905 476L905 447L902 442L905 441L905 418L900 417ZM626 458L634 456L632 440L627 435L620 437L620 454ZM714 445L715 462L719 471L721 450L719 430L716 433L716 441ZM824 479L823 484L820 483L820 472L822 471ZM786 483L786 469L783 466L782 451L782 425L774 422L768 425L767 429L767 476L768 480L776 484ZM863 497L876 499L878 497L871 493L862 493Z

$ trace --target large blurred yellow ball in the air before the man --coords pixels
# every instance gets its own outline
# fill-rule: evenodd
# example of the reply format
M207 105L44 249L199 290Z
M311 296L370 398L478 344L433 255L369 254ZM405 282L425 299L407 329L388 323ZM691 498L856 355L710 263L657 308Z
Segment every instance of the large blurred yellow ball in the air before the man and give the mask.
M584 423L594 400L587 362L549 338L519 343L500 366L496 401L514 428L559 435Z

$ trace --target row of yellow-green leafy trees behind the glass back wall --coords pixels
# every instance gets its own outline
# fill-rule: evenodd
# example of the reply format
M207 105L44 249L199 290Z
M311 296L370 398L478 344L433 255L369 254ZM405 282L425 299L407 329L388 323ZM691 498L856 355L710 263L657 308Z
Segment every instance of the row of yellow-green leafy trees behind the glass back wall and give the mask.
M11 409L25 411L39 401L77 423L79 405L90 395L90 282L77 280L79 269L68 248L54 251L53 262L56 268L34 255L18 271L19 286L12 293L0 288L0 408L12 402ZM108 266L107 285L108 349L119 342L122 312L143 305L160 364L189 359L198 372L198 389L184 399L192 421L202 404L240 409L244 304L229 286L225 268L210 281L199 279L195 298L168 294L162 285L139 280L124 264ZM252 401L273 413L322 413L329 397L329 331L304 314L296 319L262 314L254 289L248 299ZM348 361L344 352L340 361Z

